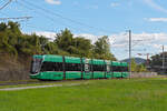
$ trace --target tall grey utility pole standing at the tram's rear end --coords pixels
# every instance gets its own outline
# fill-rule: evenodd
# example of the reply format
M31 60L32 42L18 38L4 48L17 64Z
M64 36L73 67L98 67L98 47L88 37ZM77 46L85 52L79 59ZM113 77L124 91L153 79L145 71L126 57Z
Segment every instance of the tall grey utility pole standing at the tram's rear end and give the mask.
M131 75L131 30L129 32L129 74ZM129 77L130 77L129 75Z

